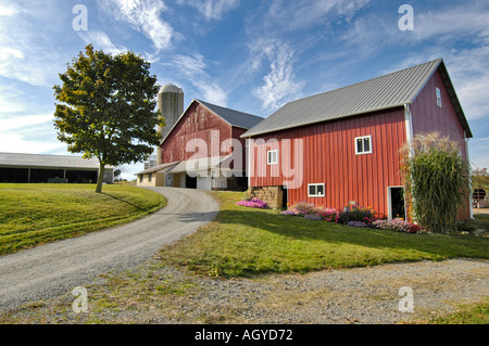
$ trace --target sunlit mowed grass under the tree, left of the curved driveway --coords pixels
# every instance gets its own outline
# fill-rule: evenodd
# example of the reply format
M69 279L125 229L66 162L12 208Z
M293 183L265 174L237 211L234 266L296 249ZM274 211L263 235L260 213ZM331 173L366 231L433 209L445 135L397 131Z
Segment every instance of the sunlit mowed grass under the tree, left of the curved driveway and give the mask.
M0 255L126 223L166 204L130 185L0 183Z

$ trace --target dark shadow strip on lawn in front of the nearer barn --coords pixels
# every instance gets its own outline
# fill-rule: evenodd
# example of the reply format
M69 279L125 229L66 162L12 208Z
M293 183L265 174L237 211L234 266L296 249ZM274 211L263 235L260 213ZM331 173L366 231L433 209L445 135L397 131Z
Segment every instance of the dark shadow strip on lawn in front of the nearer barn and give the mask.
M255 228L284 238L352 244L372 248L417 251L441 257L489 259L489 239L474 235L409 234L308 220L272 210L221 210L217 222Z

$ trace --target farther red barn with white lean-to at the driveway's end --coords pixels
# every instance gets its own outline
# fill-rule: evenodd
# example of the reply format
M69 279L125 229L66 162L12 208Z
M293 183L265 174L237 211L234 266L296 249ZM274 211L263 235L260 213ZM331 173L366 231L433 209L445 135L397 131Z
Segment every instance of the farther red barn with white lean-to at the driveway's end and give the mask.
M241 134L261 120L193 100L163 138L162 165L151 171L164 175L166 187L244 191L246 141Z

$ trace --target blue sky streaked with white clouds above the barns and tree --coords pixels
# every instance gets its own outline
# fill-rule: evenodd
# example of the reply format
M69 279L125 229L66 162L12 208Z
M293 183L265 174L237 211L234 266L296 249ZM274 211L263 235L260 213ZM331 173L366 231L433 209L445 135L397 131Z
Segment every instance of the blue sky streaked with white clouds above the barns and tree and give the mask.
M87 30L75 30L76 4ZM401 30L399 8L414 10ZM266 117L288 101L443 57L489 167L489 2L374 0L0 0L0 152L67 154L52 87L87 43L131 50L158 82ZM123 175L142 164L125 166Z

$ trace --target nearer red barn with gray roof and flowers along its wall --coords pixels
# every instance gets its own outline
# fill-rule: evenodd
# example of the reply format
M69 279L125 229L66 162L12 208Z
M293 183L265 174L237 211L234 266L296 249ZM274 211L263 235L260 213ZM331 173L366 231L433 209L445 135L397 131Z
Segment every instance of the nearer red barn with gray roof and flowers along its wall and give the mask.
M242 136L249 185L273 207L356 204L405 216L399 150L431 131L467 158L472 132L441 59L286 104Z

